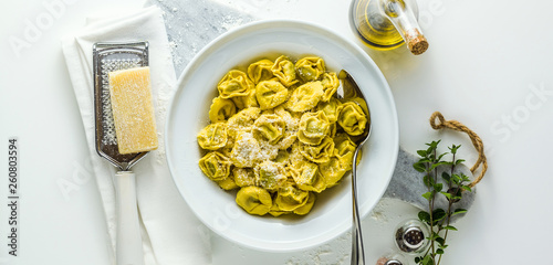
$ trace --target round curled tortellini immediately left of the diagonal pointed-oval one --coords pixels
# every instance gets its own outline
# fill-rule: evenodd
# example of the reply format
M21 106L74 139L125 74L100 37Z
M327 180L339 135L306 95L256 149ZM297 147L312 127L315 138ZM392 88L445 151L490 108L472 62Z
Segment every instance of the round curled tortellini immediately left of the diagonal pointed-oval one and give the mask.
M255 86L255 98L261 109L271 109L288 98L288 88L279 81L262 81Z

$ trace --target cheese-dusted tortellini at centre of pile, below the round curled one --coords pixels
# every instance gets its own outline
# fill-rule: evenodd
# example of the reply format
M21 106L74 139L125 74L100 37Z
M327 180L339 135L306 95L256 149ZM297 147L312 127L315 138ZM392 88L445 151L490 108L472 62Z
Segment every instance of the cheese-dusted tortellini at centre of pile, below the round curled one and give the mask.
M275 114L262 114L253 124L253 132L259 138L275 145L284 135L286 124Z

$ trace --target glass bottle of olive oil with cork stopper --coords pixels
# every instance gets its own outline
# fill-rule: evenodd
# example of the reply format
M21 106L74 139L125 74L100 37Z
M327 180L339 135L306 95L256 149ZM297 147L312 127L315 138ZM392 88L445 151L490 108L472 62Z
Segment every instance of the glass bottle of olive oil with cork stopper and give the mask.
M369 47L387 51L407 43L414 54L428 47L416 17L415 0L354 0L349 22Z

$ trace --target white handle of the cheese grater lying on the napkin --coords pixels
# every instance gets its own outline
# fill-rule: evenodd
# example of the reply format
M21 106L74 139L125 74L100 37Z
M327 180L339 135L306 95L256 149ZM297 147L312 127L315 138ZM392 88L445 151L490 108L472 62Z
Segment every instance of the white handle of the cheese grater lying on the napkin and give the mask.
M133 171L115 174L117 203L117 265L144 265L136 180Z

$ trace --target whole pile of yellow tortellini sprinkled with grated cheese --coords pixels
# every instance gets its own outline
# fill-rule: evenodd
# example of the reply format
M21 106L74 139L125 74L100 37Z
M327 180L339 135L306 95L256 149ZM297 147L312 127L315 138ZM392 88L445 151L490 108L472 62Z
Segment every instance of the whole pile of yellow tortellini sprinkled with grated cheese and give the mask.
M199 168L249 214L307 214L317 194L352 169L369 117L335 97L324 60L282 55L229 71L218 83L209 125L197 136Z

